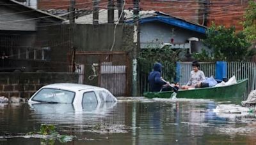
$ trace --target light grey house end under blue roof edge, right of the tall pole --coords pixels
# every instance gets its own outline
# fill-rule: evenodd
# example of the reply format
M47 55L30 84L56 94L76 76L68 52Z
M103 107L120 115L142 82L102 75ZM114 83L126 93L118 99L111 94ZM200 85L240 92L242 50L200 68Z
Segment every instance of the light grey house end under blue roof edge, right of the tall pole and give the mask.
M132 22L132 21L129 21ZM201 39L205 38L207 27L186 20L155 12L140 19L141 48L185 49L189 53L200 52Z

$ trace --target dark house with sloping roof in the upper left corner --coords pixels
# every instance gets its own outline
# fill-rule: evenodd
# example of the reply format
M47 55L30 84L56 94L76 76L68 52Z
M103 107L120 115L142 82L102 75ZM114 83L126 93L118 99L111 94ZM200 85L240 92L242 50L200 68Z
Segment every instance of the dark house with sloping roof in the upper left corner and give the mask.
M48 26L64 19L12 0L0 2L0 15L0 71L49 67L55 50Z

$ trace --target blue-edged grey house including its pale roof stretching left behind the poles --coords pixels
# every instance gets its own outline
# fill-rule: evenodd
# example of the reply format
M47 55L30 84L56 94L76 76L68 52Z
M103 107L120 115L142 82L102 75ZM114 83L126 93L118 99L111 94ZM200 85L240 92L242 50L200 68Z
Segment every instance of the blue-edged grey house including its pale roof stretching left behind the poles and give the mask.
M108 10L99 11L99 24L108 24ZM114 22L118 21L118 11L114 11ZM140 48L186 49L189 53L200 52L204 47L207 27L172 17L159 11L140 11ZM124 11L125 24L133 25L132 11ZM68 20L65 21L68 23ZM84 15L76 19L76 24L92 24L93 15Z

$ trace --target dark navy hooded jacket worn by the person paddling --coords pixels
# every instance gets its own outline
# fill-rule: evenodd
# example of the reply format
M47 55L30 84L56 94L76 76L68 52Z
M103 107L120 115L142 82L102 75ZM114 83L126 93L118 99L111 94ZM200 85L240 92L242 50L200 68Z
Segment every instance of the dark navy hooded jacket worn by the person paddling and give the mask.
M150 72L148 76L149 91L159 92L166 83L161 79L162 65L160 63L154 64L154 71Z

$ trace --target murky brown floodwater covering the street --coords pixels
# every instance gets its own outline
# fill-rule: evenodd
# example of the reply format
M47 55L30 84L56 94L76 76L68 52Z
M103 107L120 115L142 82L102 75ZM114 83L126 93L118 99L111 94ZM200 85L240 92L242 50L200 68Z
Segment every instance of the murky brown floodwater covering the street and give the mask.
M65 144L254 144L256 117L216 114L213 100L118 98L116 104L0 104L0 144L42 144L26 134L53 124ZM227 103L227 102L226 102ZM61 144L54 141L55 144Z

